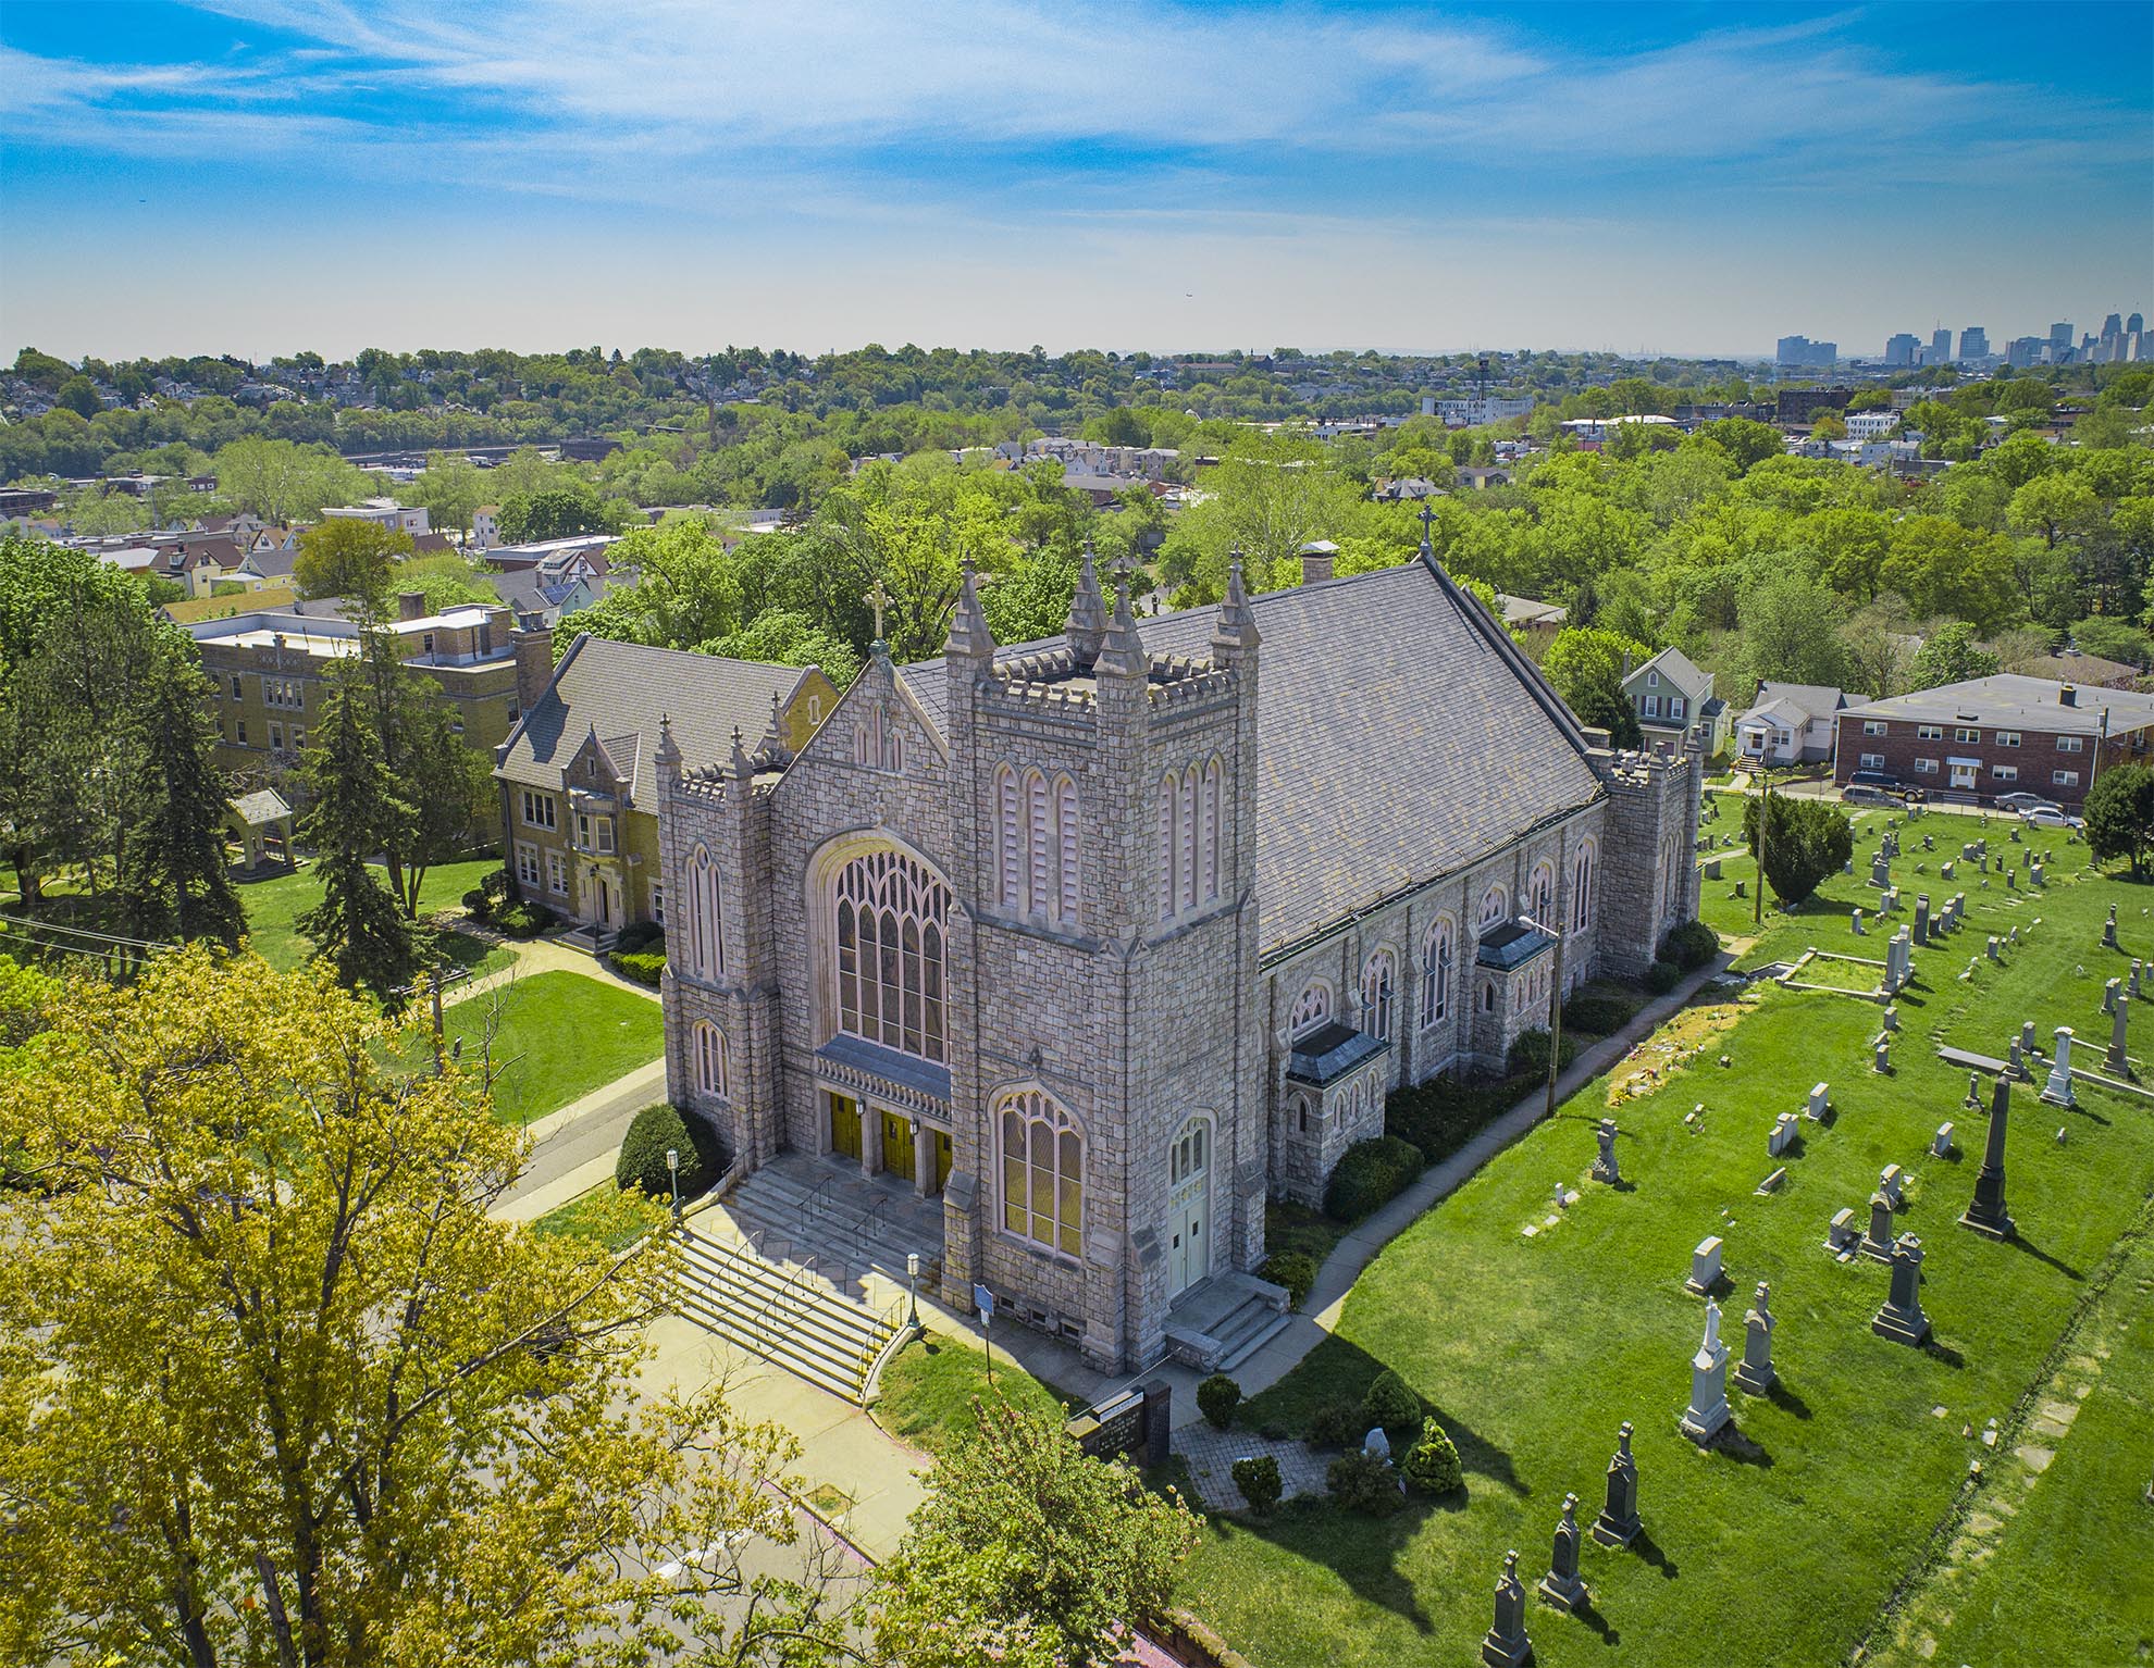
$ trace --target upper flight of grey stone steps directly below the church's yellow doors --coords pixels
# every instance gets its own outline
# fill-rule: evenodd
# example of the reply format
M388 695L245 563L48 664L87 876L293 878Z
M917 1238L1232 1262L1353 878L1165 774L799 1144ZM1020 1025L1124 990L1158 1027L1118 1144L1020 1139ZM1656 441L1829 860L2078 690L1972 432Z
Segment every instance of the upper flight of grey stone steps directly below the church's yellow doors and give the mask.
M806 1266L836 1294L866 1296L870 1274L905 1285L920 1257L920 1289L941 1278L941 1201L881 1186L836 1164L780 1156L741 1177L726 1214L773 1263Z

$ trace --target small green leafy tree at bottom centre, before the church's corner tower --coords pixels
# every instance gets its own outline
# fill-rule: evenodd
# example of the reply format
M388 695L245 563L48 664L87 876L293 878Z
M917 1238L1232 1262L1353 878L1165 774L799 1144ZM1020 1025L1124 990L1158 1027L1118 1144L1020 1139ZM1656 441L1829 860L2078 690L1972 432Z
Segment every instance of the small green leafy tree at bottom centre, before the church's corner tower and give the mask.
M890 1668L1099 1668L1155 1623L1195 1517L1060 1420L976 1401L978 1440L946 1453L898 1556L877 1573Z

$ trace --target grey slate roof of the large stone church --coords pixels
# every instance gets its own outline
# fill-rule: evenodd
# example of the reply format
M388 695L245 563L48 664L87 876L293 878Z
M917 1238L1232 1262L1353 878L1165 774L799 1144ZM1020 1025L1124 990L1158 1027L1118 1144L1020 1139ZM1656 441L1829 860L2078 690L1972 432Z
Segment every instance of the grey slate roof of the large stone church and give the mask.
M1600 796L1570 708L1432 560L1249 598L1262 953L1467 867ZM1217 609L1137 622L1208 656ZM1010 646L1008 654L1060 646ZM941 661L905 667L948 734Z

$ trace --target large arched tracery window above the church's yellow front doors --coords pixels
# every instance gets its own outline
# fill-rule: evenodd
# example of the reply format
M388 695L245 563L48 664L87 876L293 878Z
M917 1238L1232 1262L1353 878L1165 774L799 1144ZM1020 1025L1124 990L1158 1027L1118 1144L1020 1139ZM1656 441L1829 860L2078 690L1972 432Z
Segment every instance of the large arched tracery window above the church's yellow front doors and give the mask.
M855 857L831 889L838 1029L920 1059L948 1059L950 889L898 850Z

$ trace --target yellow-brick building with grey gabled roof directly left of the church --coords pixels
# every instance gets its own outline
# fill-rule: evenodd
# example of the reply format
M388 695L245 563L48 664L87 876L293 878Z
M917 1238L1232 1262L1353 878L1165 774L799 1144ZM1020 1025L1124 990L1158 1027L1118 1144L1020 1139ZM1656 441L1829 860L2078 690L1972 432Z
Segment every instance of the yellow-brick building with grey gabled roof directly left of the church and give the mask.
M719 764L743 743L797 751L836 710L821 667L728 661L579 635L554 667L551 631L519 631L523 719L495 753L517 891L603 941L666 925L653 751ZM551 676L547 676L551 674Z

